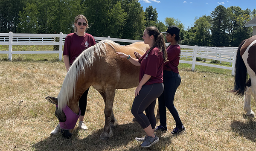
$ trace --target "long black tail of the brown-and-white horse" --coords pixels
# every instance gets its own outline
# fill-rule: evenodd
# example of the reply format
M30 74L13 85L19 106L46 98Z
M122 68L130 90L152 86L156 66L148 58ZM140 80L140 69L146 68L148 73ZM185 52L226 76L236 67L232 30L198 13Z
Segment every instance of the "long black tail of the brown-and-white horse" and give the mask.
M244 64L243 58L240 55L241 46L244 44L244 41L239 45L236 52L236 65L235 65L235 82L234 82L234 90L231 92L236 93L238 96L243 96L246 90L246 81L248 79L247 76L247 68Z

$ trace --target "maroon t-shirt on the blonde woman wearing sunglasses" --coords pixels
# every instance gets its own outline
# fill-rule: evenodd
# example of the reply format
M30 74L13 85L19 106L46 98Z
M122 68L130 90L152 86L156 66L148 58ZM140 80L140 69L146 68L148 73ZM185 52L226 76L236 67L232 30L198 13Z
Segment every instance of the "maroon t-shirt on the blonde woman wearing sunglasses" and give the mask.
M75 32L68 34L65 38L63 55L69 56L71 65L85 49L95 44L93 36L88 33L85 33L84 36L76 35Z

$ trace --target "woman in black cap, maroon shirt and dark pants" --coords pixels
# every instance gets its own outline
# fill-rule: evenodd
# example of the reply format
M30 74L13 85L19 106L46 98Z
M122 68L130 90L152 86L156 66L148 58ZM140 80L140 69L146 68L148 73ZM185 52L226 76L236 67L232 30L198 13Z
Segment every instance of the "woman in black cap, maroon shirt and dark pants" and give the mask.
M167 131L167 107L176 122L176 127L171 133L179 134L186 131L186 128L180 120L179 113L173 104L175 92L181 81L178 70L180 61L180 46L178 45L178 41L180 41L180 29L177 26L169 26L166 32L161 33L166 34L166 41L169 42L170 45L166 49L169 61L165 62L163 66L164 90L162 95L158 98L160 125L155 128L155 131Z

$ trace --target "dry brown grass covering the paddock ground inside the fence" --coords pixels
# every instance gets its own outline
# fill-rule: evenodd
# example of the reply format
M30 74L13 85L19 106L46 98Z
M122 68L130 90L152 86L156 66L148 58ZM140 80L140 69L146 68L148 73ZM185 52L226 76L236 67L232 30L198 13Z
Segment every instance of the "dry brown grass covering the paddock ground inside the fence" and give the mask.
M134 140L143 136L132 122L133 89L116 90L113 112L119 125L108 141L99 139L105 122L104 102L90 88L85 123L87 131L75 129L71 139L50 136L58 119L46 96L57 96L66 70L63 62L0 61L0 151L255 151L256 120L243 116L243 100L232 93L234 77L192 72L181 68L182 82L175 106L187 131L171 134L175 122L168 112L169 131L157 133L160 141L141 148ZM205 76L205 77L204 77ZM255 103L252 102L253 110ZM157 122L159 124L159 122Z

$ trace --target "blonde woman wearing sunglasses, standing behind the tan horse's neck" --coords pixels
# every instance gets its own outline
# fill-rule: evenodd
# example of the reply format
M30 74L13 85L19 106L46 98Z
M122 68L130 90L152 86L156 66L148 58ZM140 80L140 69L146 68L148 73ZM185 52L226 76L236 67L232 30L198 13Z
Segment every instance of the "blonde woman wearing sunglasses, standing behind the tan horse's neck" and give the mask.
M68 34L65 38L63 58L64 64L67 69L67 72L70 66L73 64L73 61L83 52L85 49L89 48L96 44L92 35L86 33L88 29L88 21L84 15L78 15L75 18L74 23L75 32ZM84 124L84 114L87 105L87 94L89 88L84 92L84 94L79 99L79 108L81 110L81 115L79 116L79 128L82 130L87 130L87 126ZM51 134L58 134L60 131L60 125L51 132Z

